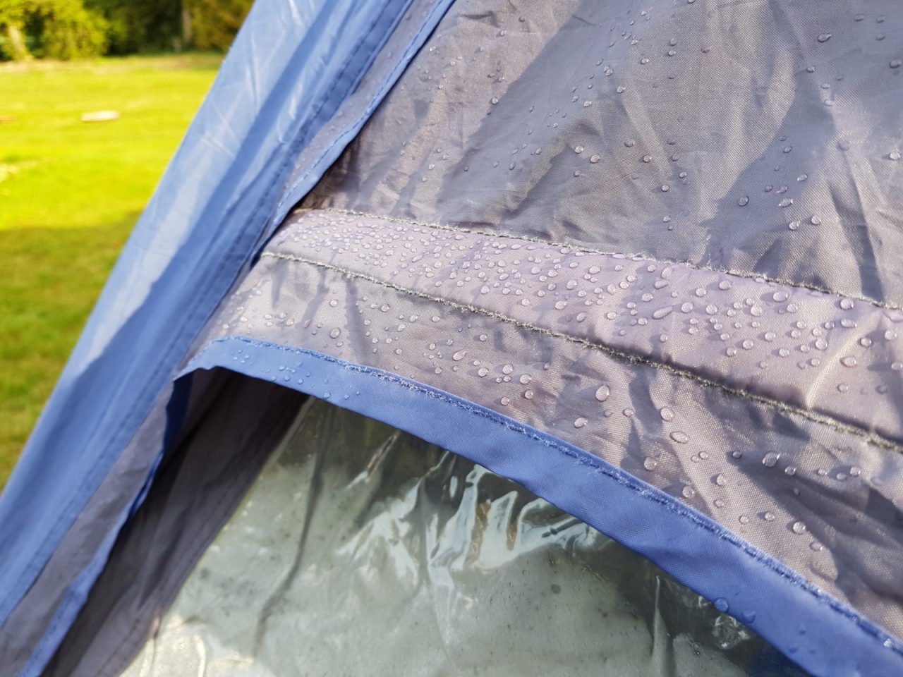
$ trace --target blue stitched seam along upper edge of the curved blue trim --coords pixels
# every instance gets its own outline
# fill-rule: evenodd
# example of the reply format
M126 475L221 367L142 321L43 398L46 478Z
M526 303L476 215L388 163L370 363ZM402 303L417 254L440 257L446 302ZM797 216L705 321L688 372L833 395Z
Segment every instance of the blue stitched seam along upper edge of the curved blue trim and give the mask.
M308 357L314 357L324 362L330 362L332 364L343 366L345 369L349 371L357 371L358 373L367 374L368 376L374 376L381 381L386 383L390 383L393 385L398 385L406 388L407 390L413 391L415 393L424 394L427 397L432 399L441 400L444 403L451 404L452 406L462 409L468 413L472 413L480 416L488 420L489 422L496 423L509 431L517 432L525 437L539 441L545 444L546 447L549 447L553 450L558 451L559 453L567 456L571 459L574 459L577 463L582 465L587 465L590 468L593 468L600 472L601 474L614 479L620 485L624 487L628 487L632 491L634 491L638 496L642 498L646 498L651 500L658 505L662 505L669 512L675 513L675 515L680 515L690 521L694 526L702 528L703 530L716 535L723 541L727 543L731 543L731 545L740 549L740 551L746 553L750 557L752 557L755 561L767 567L769 570L777 573L781 578L789 581L792 585L795 585L799 589L803 589L813 597L815 597L820 603L829 607L835 613L840 614L842 617L845 617L849 620L852 620L857 627L859 627L866 634L878 639L881 642L890 641L890 645L885 645L886 648L889 648L895 654L903 656L903 650L898 647L897 643L894 642L889 635L886 635L880 631L880 627L876 626L867 618L861 617L858 613L852 610L852 608L843 604L840 600L833 598L830 595L825 594L821 590L817 588L817 586L805 580L802 576L796 573L795 570L790 569L786 565L781 562L775 560L771 555L767 552L763 552L759 550L759 548L754 547L750 543L747 543L743 539L741 539L737 534L732 533L731 531L725 529L721 524L715 523L709 518L697 514L695 511L687 508L685 505L677 501L674 497L668 496L656 489L655 487L648 486L645 482L641 482L636 478L628 475L627 473L621 473L617 471L617 468L607 467L600 465L600 459L593 457L588 451L579 450L578 448L569 448L564 446L563 444L556 441L554 437L547 434L542 434L541 432L534 432L527 429L527 427L523 424L519 424L518 422L508 419L507 417L502 416L496 412L492 412L491 410L487 410L483 407L479 407L479 405L475 405L472 403L468 403L465 400L461 400L459 398L453 397L448 394L443 394L440 391L434 390L426 385L418 384L414 381L406 379L402 376L396 376L394 374L390 374L388 372L384 372L382 370L376 369L370 366L364 365L356 365L350 362L346 362L345 360L341 360L338 357L331 357L330 355L324 355L323 353L318 353L315 350L311 350L309 348L292 348L289 346L283 346L277 343L271 343L269 341L264 341L256 338L246 338L242 336L230 336L224 338L217 338L210 342L207 348L204 348L204 351L200 353L198 357L194 357L191 360L189 366L185 368L183 374L189 373L192 368L191 365L196 363L204 352L206 352L210 347L217 343L227 343L230 341L236 341L239 343L244 343L256 348L265 348L276 349L286 353L293 353L295 355L303 354ZM199 368L199 367L194 367ZM200 367L200 368L208 368L208 367ZM234 366L224 365L223 368L227 368L233 371L240 371ZM336 403L337 406L342 406L340 403ZM603 461L604 462L604 461Z

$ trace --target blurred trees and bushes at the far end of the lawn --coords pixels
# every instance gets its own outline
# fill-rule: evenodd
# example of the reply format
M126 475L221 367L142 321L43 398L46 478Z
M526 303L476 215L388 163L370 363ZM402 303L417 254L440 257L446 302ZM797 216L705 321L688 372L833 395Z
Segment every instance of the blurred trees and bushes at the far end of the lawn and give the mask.
M0 0L0 60L226 50L253 0Z

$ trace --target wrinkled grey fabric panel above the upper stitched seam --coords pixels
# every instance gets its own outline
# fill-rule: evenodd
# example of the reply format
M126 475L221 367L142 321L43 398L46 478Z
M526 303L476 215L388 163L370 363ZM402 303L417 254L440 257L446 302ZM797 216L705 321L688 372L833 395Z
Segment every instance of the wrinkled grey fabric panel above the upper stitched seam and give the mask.
M897 0L461 0L305 200L903 303Z

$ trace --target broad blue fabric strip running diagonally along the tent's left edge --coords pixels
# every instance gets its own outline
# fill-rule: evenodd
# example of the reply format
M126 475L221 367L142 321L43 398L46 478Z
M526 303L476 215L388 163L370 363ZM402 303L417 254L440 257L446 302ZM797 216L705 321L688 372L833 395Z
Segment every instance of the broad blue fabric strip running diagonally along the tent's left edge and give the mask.
M0 497L0 623L253 258L297 149L353 92L407 5L254 6ZM411 49L397 54L399 64L448 5L432 5ZM390 84L379 91L385 94ZM345 134L330 144L332 156L350 138L348 130L362 124L342 124ZM330 153L307 181L329 166Z

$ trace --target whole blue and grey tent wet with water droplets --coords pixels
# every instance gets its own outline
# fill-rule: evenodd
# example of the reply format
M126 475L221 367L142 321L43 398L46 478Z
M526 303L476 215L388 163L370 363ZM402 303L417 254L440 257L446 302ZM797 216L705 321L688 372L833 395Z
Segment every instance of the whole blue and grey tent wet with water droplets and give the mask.
M0 673L903 674L900 34L259 0L0 496Z

